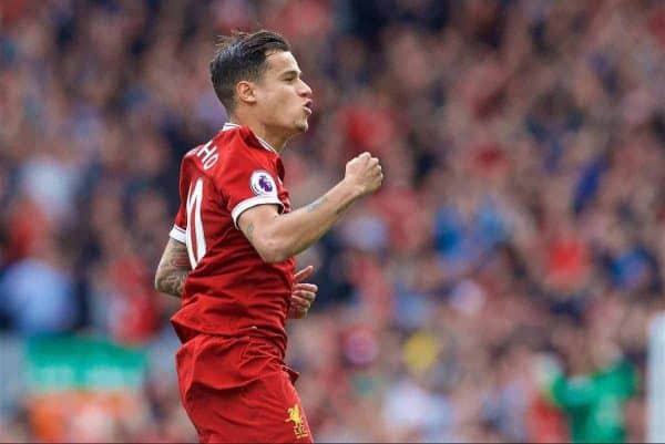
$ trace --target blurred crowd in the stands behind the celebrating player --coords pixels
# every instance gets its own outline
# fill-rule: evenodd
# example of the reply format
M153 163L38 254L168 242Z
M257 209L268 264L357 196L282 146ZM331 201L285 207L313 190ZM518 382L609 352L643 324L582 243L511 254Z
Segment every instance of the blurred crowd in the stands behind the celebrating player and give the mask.
M196 440L152 282L180 158L226 120L215 37L259 27L315 93L295 206L362 151L386 172L298 258L317 441L665 424L665 3L2 0L0 23L0 441Z

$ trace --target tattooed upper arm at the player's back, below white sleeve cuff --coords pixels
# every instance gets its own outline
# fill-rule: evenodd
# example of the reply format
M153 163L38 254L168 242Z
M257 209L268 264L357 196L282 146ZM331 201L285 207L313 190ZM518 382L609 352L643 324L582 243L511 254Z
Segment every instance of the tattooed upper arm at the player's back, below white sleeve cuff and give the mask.
M192 270L185 244L168 238L155 273L155 289L181 298L185 279Z

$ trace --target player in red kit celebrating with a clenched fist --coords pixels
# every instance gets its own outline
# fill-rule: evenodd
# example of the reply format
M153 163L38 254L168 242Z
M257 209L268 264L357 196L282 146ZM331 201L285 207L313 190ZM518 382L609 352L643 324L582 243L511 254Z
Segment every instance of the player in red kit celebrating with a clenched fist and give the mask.
M155 287L180 295L172 318L183 342L183 405L201 442L313 442L284 363L287 317L304 316L316 289L297 281L294 256L381 185L379 161L349 161L341 182L291 211L279 153L307 131L311 89L285 39L234 33L211 62L231 123L181 164L181 206ZM294 301L294 302L291 302Z

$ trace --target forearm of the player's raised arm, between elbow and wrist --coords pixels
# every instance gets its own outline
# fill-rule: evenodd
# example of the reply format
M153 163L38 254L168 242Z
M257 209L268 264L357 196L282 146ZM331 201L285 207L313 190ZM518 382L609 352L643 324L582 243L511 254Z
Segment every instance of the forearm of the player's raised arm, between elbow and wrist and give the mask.
M352 186L340 182L306 207L277 216L266 236L274 239L279 259L295 256L320 239L359 196Z

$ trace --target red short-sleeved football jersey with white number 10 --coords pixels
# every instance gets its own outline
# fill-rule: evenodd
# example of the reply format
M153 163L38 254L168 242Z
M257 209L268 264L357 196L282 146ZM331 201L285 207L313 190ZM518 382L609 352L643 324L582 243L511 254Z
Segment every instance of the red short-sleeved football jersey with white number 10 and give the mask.
M186 244L192 271L171 319L177 335L259 335L284 353L295 259L264 262L237 228L238 216L257 205L290 211L279 155L247 126L226 124L183 157L180 174L170 236Z

